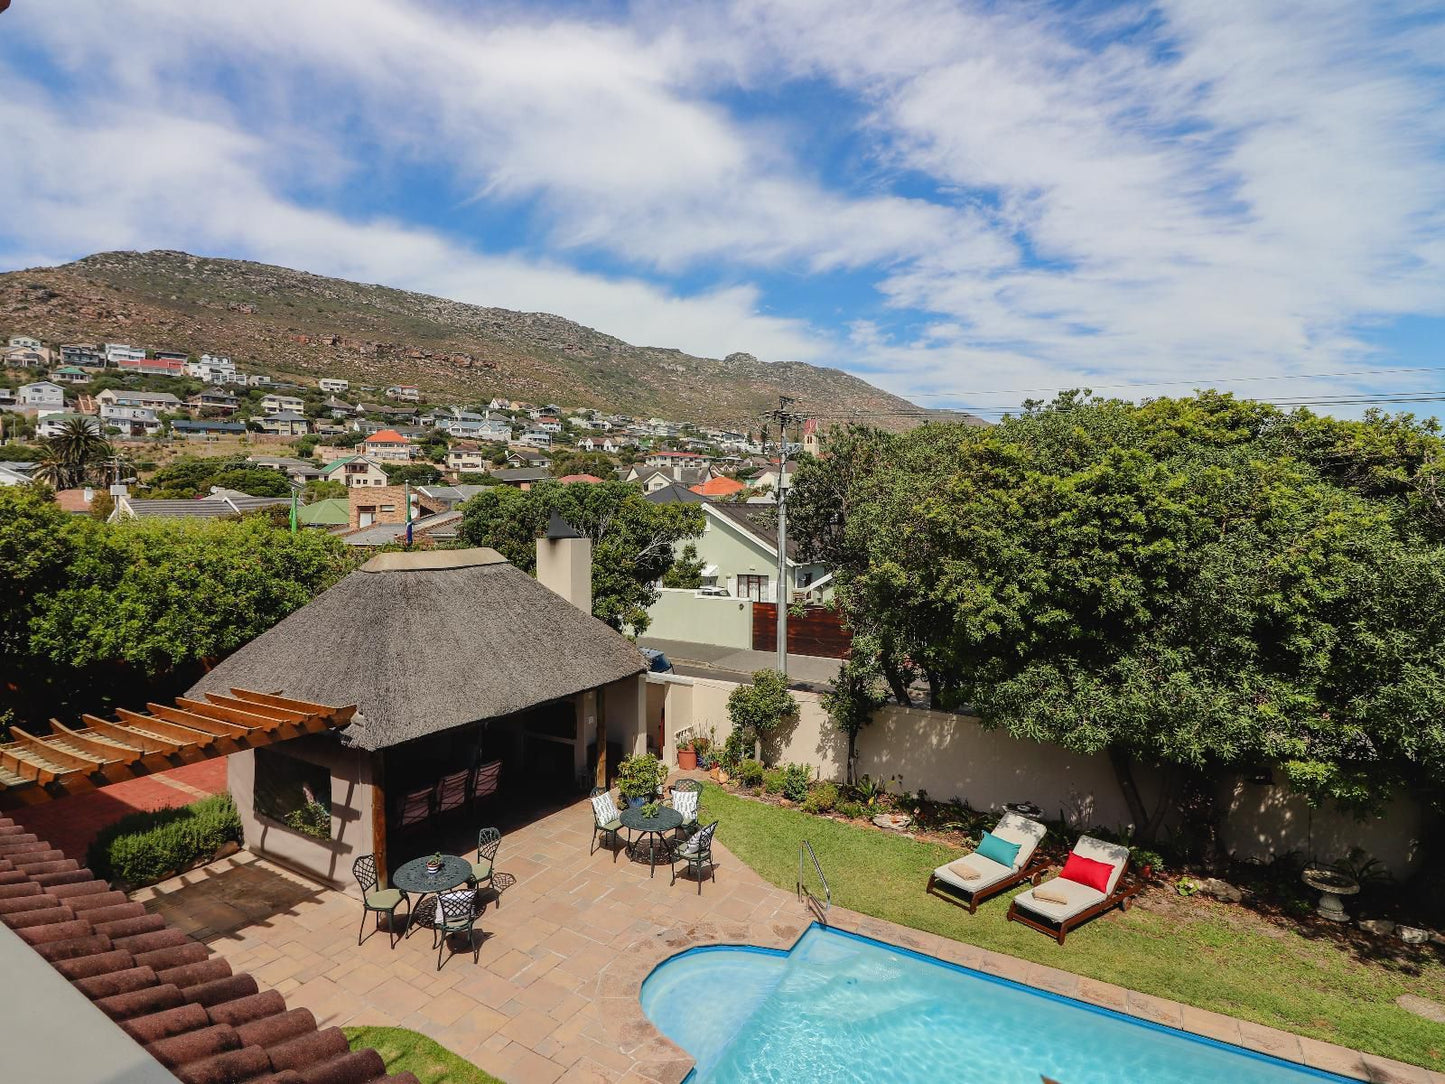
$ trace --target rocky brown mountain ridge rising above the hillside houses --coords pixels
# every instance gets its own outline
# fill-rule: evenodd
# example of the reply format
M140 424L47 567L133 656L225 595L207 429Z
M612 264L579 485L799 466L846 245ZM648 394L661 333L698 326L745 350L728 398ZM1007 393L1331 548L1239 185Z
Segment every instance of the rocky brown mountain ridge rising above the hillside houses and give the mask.
M0 330L62 343L227 354L241 369L353 386L416 384L432 400L493 396L757 428L792 395L803 413L909 425L907 400L837 369L634 347L545 312L465 305L181 251L111 251L0 275Z

